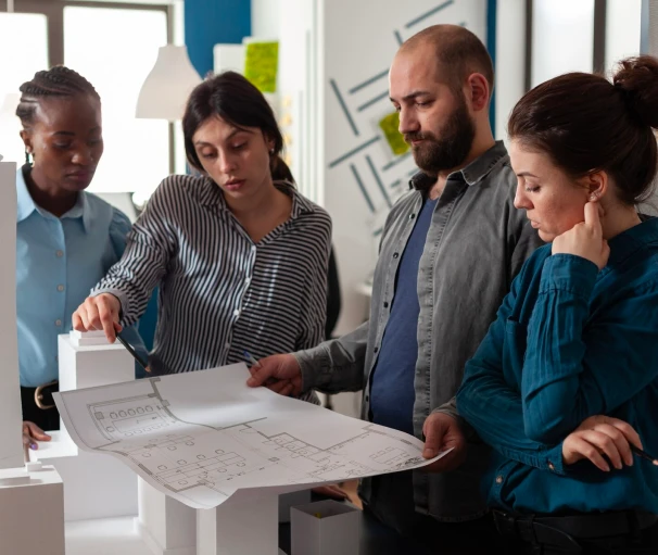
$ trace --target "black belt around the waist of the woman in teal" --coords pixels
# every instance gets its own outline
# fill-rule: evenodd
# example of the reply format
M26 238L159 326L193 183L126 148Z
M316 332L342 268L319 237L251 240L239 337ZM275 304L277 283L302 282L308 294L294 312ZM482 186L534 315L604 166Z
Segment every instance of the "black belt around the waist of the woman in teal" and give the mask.
M658 522L658 515L645 510L620 510L569 516L515 516L493 510L503 535L516 535L530 543L578 546L577 539L636 534Z

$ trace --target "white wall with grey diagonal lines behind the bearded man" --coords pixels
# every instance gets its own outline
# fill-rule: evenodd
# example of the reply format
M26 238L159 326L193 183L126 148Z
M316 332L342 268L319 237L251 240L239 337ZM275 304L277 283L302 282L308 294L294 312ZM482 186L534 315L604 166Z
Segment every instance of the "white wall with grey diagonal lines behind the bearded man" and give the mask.
M387 166L395 159L378 126L380 118L393 111L388 99L387 71L400 40L436 23L465 24L485 41L486 1L454 2L442 10L436 9L445 2L438 0L322 0L319 5L318 21L325 34L320 80L326 106L322 125L317 129L324 129L325 140L318 162L324 174L325 206L333 217L341 274L343 310L338 332L345 332L367 315L367 299L357 288L375 266L379 242L375 232L383 225L390 207L379 184L393 203L407 190L409 174L415 169L410 155ZM423 14L430 15L422 18ZM359 88L370 79L371 84ZM371 140L358 153L337 163ZM374 210L360 191L355 173ZM391 187L396 181L400 185Z

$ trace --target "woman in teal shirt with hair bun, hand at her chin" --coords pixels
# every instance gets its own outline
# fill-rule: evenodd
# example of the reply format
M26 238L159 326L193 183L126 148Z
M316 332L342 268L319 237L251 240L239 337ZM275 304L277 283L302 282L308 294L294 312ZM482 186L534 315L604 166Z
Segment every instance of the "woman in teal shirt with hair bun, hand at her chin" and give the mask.
M457 394L493 447L484 489L510 553L656 553L658 61L573 73L509 119L515 204L551 244L523 266Z

